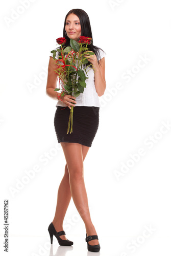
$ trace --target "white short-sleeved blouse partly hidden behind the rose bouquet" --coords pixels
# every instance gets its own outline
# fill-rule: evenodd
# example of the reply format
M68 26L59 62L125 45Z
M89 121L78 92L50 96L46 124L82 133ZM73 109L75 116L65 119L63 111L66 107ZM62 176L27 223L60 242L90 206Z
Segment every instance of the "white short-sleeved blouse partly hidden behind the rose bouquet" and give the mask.
M57 49L57 48L56 48ZM54 49L54 50L56 50ZM100 59L105 57L105 52L100 50ZM53 53L50 53L50 56L53 57ZM56 53L56 59L58 59L58 52ZM76 98L76 106L101 106L99 101L99 96L95 90L95 84L94 84L94 71L93 69L87 68L88 73L86 76L88 76L88 79L85 80L86 82L86 88L84 88L84 92L80 93L80 95ZM56 88L57 84L56 84ZM58 100L56 106L67 106L62 101Z

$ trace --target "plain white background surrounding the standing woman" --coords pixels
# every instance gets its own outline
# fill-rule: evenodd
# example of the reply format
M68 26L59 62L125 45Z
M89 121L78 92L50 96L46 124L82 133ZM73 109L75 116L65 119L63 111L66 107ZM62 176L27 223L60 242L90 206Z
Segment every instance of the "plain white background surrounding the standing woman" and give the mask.
M43 255L37 237L39 245L48 241L65 158L54 129L57 102L45 94L47 66L56 38L63 36L66 13L81 8L90 17L94 45L107 54L100 126L84 162L101 255L107 255L105 246L115 256L169 254L170 2L32 0L27 8L22 2L1 4L1 252L5 199L9 255ZM34 177L27 178L30 170ZM153 229L148 238L145 226ZM64 230L68 239L80 236L86 246L85 226L72 199ZM133 239L134 251L127 248Z

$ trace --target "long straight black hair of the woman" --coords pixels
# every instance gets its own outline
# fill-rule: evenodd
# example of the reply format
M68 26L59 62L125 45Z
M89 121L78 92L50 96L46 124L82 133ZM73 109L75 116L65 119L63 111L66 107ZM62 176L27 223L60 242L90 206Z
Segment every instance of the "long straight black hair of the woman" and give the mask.
M70 44L69 44L70 38L65 33L65 25L66 25L66 19L67 19L68 15L71 13L74 13L80 19L81 36L88 36L88 37L92 38L92 43L91 43L91 45L88 46L88 48L90 51L95 53L95 55L97 56L97 59L99 60L100 59L100 50L102 50L102 49L93 45L93 37L92 37L92 32L91 32L90 19L88 17L88 14L82 9L72 9L66 14L64 28L63 28L63 37L66 38L65 46L66 47L70 46Z

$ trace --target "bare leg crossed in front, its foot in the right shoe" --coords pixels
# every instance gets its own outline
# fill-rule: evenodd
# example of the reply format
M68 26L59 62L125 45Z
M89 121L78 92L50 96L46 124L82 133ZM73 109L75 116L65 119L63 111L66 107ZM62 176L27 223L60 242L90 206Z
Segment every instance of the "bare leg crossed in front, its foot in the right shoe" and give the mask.
M82 145L79 143L61 143L65 155L72 199L85 223L87 236L97 234L91 222L88 198L84 183L84 166ZM88 242L90 245L99 244L98 240Z

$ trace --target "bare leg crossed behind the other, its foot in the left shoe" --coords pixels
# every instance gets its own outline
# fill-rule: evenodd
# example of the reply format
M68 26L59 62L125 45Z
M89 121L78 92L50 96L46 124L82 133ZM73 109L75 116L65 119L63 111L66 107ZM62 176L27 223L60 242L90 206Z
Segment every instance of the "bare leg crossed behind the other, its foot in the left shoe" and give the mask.
M85 159L88 153L89 147L82 145L82 156ZM53 225L57 232L63 230L63 220L71 199L69 173L67 164L65 165L65 173L58 188L57 206ZM61 239L66 240L65 236L60 236Z

